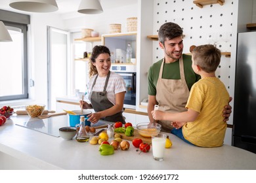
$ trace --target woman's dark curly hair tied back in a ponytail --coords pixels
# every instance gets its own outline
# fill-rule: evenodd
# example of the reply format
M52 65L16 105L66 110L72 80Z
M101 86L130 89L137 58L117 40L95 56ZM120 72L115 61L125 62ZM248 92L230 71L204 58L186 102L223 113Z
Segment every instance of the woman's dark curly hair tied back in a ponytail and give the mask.
M102 45L95 46L93 48L93 52L91 53L89 61L89 78L91 78L91 76L93 75L98 74L98 71L93 63L96 62L96 58L98 58L100 54L108 54L110 56L110 50L108 49L108 47Z

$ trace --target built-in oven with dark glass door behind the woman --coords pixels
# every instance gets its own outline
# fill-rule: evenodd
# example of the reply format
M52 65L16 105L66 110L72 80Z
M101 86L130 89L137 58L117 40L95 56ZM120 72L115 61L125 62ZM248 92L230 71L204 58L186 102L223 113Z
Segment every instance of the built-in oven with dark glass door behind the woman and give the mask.
M136 65L112 65L111 71L118 73L125 80L124 108L136 108Z

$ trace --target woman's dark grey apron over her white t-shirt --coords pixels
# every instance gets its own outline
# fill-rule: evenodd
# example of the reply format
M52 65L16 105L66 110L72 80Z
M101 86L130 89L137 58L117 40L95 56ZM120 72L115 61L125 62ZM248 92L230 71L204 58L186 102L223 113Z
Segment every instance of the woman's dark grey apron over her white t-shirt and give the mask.
M93 86L95 86L97 78L98 78L98 75L96 75L96 78L93 82ZM89 94L89 100L91 101L91 105L93 106L93 109L95 110L95 112L106 110L114 106L114 104L108 100L107 92L106 92L106 87L108 86L109 78L110 78L110 72L108 72L108 75L106 77L106 82L104 85L103 92L94 92L93 86L91 88L91 93ZM108 122L122 122L123 124L125 124L125 120L123 118L122 112L117 112L112 116L106 116L105 118L102 118L102 120L105 120Z

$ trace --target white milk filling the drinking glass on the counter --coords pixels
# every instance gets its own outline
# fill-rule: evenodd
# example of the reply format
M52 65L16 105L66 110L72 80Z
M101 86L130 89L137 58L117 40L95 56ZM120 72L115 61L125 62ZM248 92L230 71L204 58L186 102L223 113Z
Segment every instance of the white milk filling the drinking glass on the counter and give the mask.
M165 152L165 138L154 137L152 138L152 150L154 158L163 159Z

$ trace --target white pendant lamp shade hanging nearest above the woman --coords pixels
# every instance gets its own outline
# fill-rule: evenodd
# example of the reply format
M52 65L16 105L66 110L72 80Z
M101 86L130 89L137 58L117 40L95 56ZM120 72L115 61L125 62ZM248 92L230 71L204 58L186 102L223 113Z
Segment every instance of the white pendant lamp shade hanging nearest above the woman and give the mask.
M77 11L83 14L99 14L103 12L98 0L81 0Z

